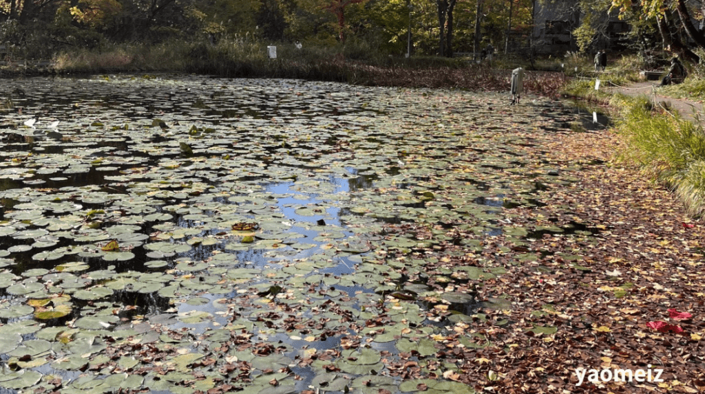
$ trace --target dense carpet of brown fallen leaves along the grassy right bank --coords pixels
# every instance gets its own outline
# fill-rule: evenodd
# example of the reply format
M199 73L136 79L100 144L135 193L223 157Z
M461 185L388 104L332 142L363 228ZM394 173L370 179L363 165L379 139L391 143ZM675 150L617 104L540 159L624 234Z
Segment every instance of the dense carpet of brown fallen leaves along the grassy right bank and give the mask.
M453 378L478 391L697 393L705 386L701 224L637 170L610 165L615 136L575 137L554 134L543 157L556 167L579 164L576 182L544 191L548 205L515 208L503 224L535 231L535 239L517 246L492 237L482 257L473 256L479 266L507 270L484 280L482 298L509 302L490 303L472 324L455 325L439 356L462 360L465 374ZM467 265L467 258L452 257L457 246L441 250L446 261L429 267L430 275ZM671 324L670 330L659 332L653 322ZM463 347L468 333L486 347ZM586 379L577 386L576 369L662 369L663 382Z

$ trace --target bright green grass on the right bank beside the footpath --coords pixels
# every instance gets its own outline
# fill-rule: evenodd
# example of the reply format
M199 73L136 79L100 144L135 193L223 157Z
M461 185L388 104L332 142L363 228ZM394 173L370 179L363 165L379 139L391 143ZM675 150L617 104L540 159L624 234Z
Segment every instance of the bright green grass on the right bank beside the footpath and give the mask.
M613 109L616 131L625 144L618 161L634 165L647 177L666 185L696 217L705 215L705 132L700 122L684 120L678 113L654 106L646 96L631 97L595 90L612 82L625 86L637 80L638 59L625 56L608 67L607 74L576 75L561 93L606 103ZM659 89L660 95L699 101L705 98L705 80L693 72L682 84Z

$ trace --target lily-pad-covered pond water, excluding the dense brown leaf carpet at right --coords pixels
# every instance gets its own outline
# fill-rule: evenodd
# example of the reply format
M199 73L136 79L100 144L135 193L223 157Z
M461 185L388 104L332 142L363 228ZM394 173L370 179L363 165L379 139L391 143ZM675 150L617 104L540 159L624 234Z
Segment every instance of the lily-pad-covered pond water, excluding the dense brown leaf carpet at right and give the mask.
M542 158L552 134L591 132L562 101L194 75L0 85L4 393L472 393L437 360L453 324L506 303L478 287L503 269L472 256L594 231L512 225L575 180ZM449 239L467 265L429 274Z

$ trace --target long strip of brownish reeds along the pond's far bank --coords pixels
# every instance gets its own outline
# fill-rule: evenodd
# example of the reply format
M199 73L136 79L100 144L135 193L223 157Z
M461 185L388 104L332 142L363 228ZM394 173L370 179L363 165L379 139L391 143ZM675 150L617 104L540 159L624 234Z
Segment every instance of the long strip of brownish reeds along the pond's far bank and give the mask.
M264 42L247 37L161 44L121 44L98 50L73 49L56 56L56 72L194 72L221 77L324 80L390 87L430 87L506 91L511 70L463 58L381 56L365 42L304 46L274 43L268 58ZM527 72L525 92L556 96L568 77L560 72Z

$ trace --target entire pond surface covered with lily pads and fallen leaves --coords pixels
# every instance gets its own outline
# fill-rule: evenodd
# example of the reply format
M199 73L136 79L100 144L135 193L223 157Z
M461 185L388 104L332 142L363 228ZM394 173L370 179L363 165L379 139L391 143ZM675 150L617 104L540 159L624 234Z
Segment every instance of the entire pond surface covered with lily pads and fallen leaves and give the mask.
M568 103L0 82L11 392L572 393L603 385L576 369L627 368L664 382L605 392L704 383L701 226L611 165L616 139Z

